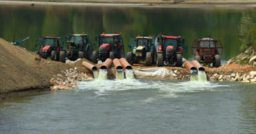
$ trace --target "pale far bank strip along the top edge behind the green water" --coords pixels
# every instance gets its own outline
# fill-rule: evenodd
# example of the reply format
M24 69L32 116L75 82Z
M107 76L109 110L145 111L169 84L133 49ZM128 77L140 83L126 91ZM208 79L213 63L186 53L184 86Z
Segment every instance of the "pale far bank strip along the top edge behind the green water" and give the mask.
M0 0L0 5L71 5L71 6L123 6L123 7L154 7L154 8L254 8L256 2L253 0Z

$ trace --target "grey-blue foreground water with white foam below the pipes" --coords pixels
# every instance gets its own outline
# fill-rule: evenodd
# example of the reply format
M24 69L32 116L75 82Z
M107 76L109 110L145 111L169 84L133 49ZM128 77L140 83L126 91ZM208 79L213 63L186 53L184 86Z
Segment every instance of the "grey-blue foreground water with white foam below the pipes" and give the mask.
M82 81L0 102L0 133L255 133L255 84Z

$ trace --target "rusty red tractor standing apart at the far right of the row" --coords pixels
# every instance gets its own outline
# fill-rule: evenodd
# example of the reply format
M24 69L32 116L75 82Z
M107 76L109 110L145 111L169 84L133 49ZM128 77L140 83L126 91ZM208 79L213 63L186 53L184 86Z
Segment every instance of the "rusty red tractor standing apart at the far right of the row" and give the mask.
M211 64L213 67L220 67L220 55L223 53L223 46L220 40L202 38L192 43L194 59L199 63Z

